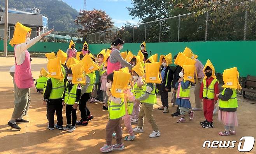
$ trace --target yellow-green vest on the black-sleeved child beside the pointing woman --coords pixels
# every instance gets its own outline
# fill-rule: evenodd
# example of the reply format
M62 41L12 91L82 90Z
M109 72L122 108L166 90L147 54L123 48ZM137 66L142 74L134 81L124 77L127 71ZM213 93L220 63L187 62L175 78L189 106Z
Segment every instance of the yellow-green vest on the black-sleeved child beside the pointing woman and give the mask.
M63 92L64 92L64 79L60 80L60 79L55 79L50 77L49 79L51 79L52 82L52 90L51 90L51 94L49 99L60 99L63 96ZM49 80L47 79L47 81ZM47 81L46 84L44 85L44 92L46 90L47 87Z

